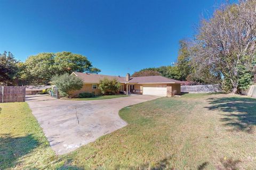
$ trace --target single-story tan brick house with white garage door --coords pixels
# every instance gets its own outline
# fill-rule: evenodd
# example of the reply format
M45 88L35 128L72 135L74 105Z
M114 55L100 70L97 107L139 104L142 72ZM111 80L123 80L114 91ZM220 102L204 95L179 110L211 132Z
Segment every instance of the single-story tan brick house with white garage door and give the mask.
M160 75L148 77L130 77L128 73L126 77L110 76L101 74L79 73L73 72L73 75L81 78L84 82L81 90L73 92L72 97L77 97L82 92L93 92L99 94L98 84L100 80L116 79L121 84L120 91L126 94L142 94L155 96L174 96L180 94L180 81L168 79Z

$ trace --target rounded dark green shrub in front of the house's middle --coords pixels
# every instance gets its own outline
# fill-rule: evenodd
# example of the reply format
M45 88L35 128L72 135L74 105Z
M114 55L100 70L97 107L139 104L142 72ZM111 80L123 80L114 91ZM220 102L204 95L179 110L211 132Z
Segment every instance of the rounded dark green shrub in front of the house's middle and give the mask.
M99 90L103 95L114 95L119 91L120 84L116 79L103 79L99 82Z

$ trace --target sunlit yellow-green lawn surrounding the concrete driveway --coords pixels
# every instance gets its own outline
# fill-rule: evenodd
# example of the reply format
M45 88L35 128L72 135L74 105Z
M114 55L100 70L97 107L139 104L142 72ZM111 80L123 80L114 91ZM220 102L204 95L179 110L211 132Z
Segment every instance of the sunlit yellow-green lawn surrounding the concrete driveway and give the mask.
M0 169L254 169L256 99L187 94L123 108L129 123L55 156L26 103L0 104Z

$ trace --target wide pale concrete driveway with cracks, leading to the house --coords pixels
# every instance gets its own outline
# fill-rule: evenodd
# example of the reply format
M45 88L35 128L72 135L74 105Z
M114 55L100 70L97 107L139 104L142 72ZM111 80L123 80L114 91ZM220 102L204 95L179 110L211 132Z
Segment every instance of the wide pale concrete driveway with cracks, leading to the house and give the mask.
M118 115L121 108L156 98L158 96L134 95L74 101L30 95L26 97L26 101L52 149L56 154L66 154L125 126L127 123Z

